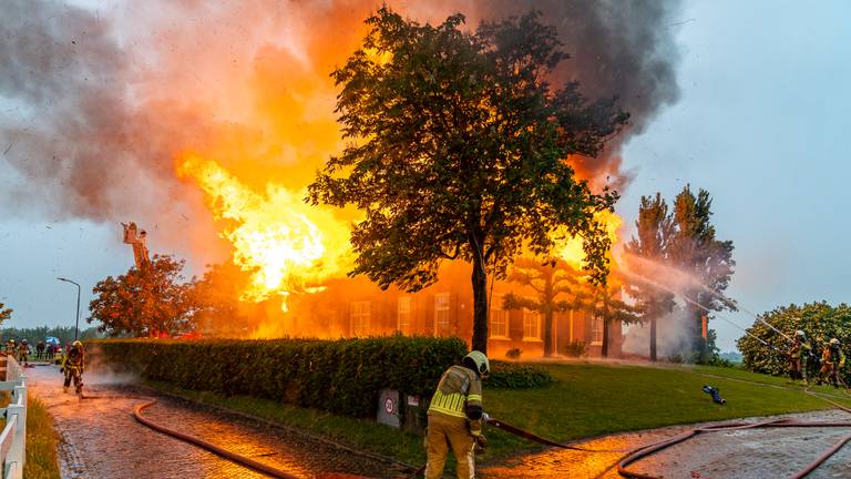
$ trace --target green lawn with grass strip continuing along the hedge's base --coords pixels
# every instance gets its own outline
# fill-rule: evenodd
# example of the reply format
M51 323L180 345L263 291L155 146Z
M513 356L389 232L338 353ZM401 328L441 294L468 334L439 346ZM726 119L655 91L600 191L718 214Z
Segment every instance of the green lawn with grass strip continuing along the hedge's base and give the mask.
M485 410L539 436L570 441L611 432L649 429L676 424L731 419L826 409L826 401L806 395L783 378L741 369L704 366L649 367L601 363L546 363L556 383L541 389L490 389L484 384ZM724 376L725 378L707 377ZM760 383L755 385L746 381ZM720 389L726 406L712 404L700 390L708 384ZM203 402L260 416L356 448L391 456L411 465L426 460L422 438L367 420L334 416L248 397L226 398L211 393L150 386ZM773 387L772 387L773 386ZM819 393L851 407L851 396L832 388ZM484 461L540 449L539 446L485 426L489 438Z

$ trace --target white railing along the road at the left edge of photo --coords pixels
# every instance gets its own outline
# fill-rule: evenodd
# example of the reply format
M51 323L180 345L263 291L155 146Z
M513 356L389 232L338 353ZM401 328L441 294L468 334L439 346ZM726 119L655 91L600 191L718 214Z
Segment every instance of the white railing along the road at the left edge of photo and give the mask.
M6 356L6 379L0 390L12 391L9 406L0 408L6 417L6 427L0 432L0 463L3 479L22 479L27 448L27 377L12 356ZM3 363L0 360L0 363Z

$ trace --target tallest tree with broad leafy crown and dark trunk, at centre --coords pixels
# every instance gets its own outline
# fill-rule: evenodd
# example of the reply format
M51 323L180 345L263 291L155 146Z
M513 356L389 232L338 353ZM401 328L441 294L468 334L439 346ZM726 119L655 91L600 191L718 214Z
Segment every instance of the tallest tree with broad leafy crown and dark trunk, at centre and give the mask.
M312 204L362 210L350 275L409 292L442 261L472 263L473 338L488 347L488 268L504 277L523 248L546 255L553 232L582 234L605 281L609 247L594 220L617 194L591 192L571 155L595 156L626 123L614 99L588 102L547 75L566 54L536 14L460 28L420 26L388 8L367 19L362 48L332 73L344 137L308 186Z

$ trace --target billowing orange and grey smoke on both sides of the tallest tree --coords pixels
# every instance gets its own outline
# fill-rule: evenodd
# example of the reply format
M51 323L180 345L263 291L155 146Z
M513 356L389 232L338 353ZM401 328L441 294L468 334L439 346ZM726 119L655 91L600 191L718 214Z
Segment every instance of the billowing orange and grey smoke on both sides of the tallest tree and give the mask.
M329 72L381 2L119 2L104 10L10 0L0 16L0 204L51 218L158 225L168 242L215 237L202 193L176 177L196 152L246 184L300 188L340 146ZM616 95L643 131L676 101L676 2L390 2L474 28L541 10L572 59L558 75ZM621 177L618 144L580 165ZM166 233L168 232L168 233ZM204 248L208 251L209 248ZM204 257L203 261L213 258Z

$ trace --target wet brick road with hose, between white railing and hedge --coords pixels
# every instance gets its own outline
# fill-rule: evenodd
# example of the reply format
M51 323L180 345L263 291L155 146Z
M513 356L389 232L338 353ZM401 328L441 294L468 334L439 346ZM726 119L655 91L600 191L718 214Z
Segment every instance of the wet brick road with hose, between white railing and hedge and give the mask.
M143 415L181 432L247 456L303 478L390 478L391 465L355 455L283 428L229 415L214 408L126 386L99 384L86 375L88 396L79 400L62 393L54 366L27 370L31 394L45 402L61 438L60 466L64 479L123 478L266 478L170 436L156 432L132 416L148 398L157 402Z

